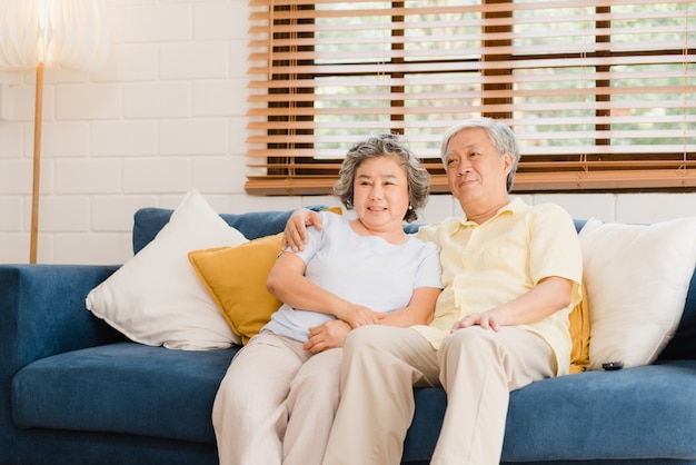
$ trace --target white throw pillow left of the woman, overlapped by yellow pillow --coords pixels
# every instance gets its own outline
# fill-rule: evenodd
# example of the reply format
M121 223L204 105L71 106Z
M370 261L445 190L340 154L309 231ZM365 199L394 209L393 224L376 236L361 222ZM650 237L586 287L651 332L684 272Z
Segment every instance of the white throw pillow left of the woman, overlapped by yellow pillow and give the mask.
M241 344L188 253L243 243L192 189L155 239L89 293L87 308L141 344L191 350Z

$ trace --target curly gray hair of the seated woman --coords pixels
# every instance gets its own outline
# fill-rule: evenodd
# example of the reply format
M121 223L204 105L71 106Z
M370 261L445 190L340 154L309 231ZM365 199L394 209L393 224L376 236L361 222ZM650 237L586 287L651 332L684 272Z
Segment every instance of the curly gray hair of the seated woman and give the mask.
M395 133L381 133L370 136L352 146L341 165L340 178L334 186L334 194L347 209L354 208L354 182L355 175L362 161L370 158L392 157L406 171L408 180L409 206L404 215L404 220L411 222L418 219L419 210L428 202L430 191L430 174L420 164L420 160L410 151L406 140Z

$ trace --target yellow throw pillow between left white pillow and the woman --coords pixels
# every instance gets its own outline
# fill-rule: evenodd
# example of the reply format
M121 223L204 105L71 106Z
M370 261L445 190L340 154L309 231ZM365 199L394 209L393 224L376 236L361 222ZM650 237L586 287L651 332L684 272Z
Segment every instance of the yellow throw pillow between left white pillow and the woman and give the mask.
M266 290L282 233L237 247L189 253L189 261L242 344L256 335L282 303Z

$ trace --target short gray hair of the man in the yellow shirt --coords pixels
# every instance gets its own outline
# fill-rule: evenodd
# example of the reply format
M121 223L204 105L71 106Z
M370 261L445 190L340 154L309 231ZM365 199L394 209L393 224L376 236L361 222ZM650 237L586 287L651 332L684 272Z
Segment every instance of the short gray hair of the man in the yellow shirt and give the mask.
M453 126L447 130L447 132L445 132L443 144L440 146L440 157L443 158L445 170L447 170L447 148L449 146L449 141L453 137L465 129L484 129L488 135L488 139L490 139L490 144L493 144L498 151L498 157L503 156L505 152L510 152L513 155L513 169L507 175L507 191L509 192L513 190L513 179L515 178L515 172L517 172L517 164L519 162L520 157L519 146L517 145L517 139L515 138L513 129L493 118L469 119Z

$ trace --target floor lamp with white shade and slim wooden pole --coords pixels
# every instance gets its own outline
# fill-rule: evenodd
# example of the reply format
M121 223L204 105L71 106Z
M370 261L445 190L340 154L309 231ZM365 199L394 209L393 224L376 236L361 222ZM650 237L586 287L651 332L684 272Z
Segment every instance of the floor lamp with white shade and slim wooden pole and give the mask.
M103 0L0 0L0 68L36 69L29 263L37 263L43 69L96 71L109 50Z

